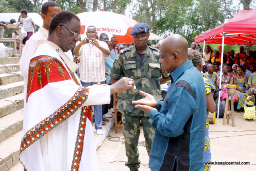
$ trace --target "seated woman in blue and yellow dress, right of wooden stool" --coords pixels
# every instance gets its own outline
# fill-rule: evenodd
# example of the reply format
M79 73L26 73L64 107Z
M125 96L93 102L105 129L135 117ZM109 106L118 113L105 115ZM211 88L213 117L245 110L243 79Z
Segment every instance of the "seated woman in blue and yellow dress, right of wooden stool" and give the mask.
M234 84L236 84L236 93L238 96L238 104L236 108L238 109L238 112L241 112L241 108L244 108L246 100L245 94L248 94L246 91L248 77L247 75L243 74L241 66L237 67L236 72L237 74L233 75Z

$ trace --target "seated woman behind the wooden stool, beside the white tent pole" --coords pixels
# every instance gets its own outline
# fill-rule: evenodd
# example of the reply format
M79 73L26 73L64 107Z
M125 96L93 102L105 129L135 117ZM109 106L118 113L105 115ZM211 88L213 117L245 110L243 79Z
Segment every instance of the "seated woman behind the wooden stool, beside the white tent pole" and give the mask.
M216 83L217 88L219 87L220 74L217 75ZM221 76L221 88L226 87L226 84L233 84L233 74L227 72L227 64L222 66L222 76Z

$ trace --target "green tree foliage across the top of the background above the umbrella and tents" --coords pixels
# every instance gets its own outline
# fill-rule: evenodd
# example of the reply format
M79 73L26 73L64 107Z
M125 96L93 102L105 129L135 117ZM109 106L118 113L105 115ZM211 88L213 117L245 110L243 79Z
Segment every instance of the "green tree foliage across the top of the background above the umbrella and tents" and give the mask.
M130 10L137 22L146 22L158 35L181 34L189 44L205 30L213 29L232 18L243 7L253 9L256 0L53 0L61 10L75 14L98 9L124 14ZM40 14L45 0L1 0L0 13L20 12L23 8ZM113 19L114 20L114 19Z

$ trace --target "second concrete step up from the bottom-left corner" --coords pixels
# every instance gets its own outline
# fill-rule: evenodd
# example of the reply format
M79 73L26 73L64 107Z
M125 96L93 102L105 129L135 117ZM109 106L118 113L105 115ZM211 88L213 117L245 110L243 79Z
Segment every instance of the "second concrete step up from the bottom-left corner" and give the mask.
M23 111L18 110L0 118L0 142L7 140L12 135L23 129Z

